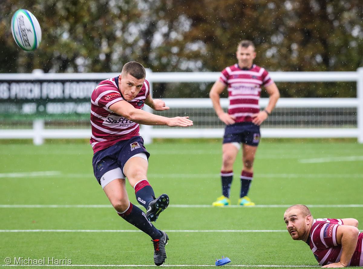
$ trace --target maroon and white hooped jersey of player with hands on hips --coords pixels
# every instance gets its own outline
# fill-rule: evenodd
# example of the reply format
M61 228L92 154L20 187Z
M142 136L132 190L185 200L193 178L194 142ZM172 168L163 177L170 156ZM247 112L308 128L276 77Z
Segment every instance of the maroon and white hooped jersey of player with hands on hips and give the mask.
M261 87L274 83L269 73L257 65L246 70L238 64L228 66L219 80L228 87L228 114L236 117L236 123L252 121L252 115L260 111Z

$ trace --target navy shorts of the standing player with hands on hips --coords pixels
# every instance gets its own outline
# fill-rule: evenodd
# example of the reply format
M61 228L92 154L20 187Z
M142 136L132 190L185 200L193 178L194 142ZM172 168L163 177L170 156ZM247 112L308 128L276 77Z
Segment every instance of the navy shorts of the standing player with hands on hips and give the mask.
M224 130L223 144L237 142L250 146L258 146L260 138L260 126L252 122L235 123L226 126Z

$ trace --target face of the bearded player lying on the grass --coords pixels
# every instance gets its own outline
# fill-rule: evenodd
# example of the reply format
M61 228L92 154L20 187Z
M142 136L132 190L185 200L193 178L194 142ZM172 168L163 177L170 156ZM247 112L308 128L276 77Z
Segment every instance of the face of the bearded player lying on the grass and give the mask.
M301 240L306 235L308 229L306 218L303 217L301 210L298 208L291 208L291 210L286 211L284 221L292 239Z

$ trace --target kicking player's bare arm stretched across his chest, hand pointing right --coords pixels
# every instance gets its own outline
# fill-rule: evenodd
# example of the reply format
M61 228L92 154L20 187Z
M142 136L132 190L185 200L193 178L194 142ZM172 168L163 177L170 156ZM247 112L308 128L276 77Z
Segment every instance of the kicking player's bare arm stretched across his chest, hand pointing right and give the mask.
M110 106L110 109L120 116L139 124L145 125L168 125L170 127L188 127L193 125L189 117L168 118L134 108L126 101L119 101Z

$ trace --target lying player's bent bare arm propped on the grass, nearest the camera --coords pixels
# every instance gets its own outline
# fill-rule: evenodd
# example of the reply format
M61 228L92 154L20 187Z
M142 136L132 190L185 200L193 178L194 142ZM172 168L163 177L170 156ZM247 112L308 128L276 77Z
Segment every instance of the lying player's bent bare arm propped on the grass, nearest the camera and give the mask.
M337 228L337 243L342 245L340 261L324 265L323 268L346 267L354 254L358 235L358 228L350 225L339 225Z

